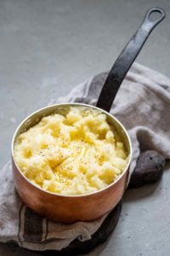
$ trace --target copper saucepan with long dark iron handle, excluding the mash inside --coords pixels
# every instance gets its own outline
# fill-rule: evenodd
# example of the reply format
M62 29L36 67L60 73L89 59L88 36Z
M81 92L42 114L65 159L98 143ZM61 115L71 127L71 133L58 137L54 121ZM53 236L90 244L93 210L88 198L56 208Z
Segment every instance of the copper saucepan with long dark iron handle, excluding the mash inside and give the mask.
M158 13L159 17L155 20L151 20L151 15L154 13ZM132 146L126 129L109 111L116 96L116 92L122 84L122 80L139 54L139 50L142 48L146 38L148 38L152 29L163 20L164 17L164 11L159 8L150 9L146 13L144 21L141 26L139 26L138 31L122 50L121 55L119 55L111 68L111 72L105 80L96 107L82 103L55 104L37 110L19 125L14 133L12 142L14 183L22 201L33 211L44 217L53 218L54 220L65 223L88 221L99 218L106 212L111 211L122 199L122 195L127 187L128 168L132 158ZM129 156L126 168L115 182L108 185L105 189L100 189L97 192L87 195L59 195L39 189L20 172L20 168L14 160L14 143L20 133L28 130L32 125L37 124L43 116L58 113L60 109L66 109L70 106L96 108L100 112L105 113L108 122L115 127L120 137L122 137L122 141L125 144Z

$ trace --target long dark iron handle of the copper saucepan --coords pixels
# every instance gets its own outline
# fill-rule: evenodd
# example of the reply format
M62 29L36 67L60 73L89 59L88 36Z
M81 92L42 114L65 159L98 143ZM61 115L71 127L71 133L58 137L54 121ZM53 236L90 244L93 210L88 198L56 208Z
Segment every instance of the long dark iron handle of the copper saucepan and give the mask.
M158 17L154 19L154 15L158 15ZM102 108L108 112L110 111L112 102L116 97L116 93L119 90L127 71L139 55L139 51L142 49L150 32L165 18L165 16L165 11L161 8L152 8L147 11L139 29L122 50L121 55L118 56L113 67L111 67L111 71L105 80L105 84L103 85L99 100L96 104L98 108Z

